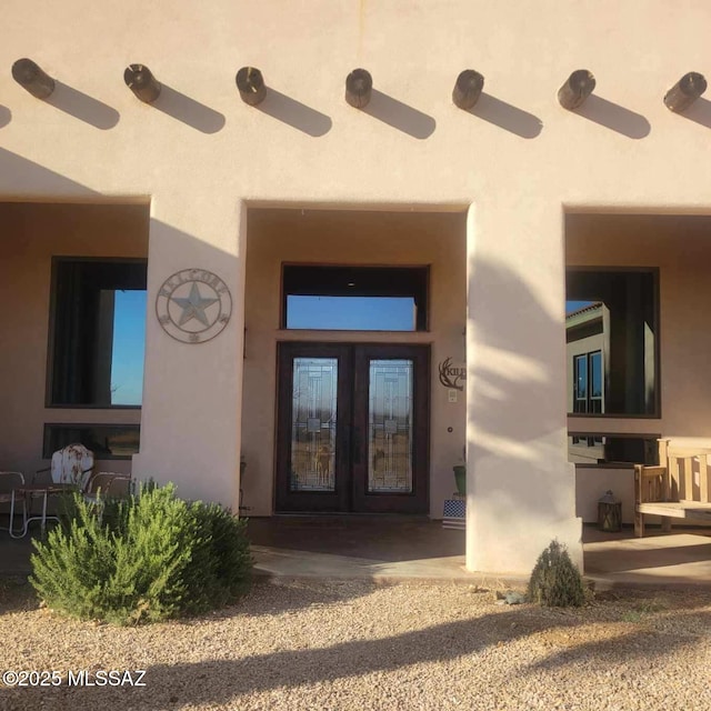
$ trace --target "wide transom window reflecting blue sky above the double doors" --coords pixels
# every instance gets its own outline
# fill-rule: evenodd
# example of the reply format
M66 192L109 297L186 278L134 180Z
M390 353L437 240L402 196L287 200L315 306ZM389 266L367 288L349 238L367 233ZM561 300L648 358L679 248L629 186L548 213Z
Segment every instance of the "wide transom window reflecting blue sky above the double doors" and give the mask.
M283 267L282 328L425 331L427 267Z

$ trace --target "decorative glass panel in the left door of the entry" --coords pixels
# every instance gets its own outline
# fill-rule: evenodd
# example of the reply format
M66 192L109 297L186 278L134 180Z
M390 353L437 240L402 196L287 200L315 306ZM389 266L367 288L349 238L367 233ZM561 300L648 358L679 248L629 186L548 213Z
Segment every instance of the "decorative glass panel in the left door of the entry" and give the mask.
M334 491L338 359L294 358L291 491Z

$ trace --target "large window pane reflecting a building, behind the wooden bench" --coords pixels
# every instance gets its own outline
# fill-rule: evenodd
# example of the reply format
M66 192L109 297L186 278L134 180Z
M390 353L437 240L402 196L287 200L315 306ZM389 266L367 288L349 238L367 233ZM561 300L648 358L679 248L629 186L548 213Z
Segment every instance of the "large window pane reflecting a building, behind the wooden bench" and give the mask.
M657 289L655 271L568 271L569 412L655 413Z

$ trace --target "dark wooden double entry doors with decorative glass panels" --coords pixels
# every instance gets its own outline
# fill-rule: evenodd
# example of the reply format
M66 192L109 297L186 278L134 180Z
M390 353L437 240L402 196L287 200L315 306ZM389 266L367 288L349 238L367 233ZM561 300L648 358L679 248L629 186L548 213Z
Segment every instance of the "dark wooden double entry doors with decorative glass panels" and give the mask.
M277 511L428 511L429 347L280 343Z

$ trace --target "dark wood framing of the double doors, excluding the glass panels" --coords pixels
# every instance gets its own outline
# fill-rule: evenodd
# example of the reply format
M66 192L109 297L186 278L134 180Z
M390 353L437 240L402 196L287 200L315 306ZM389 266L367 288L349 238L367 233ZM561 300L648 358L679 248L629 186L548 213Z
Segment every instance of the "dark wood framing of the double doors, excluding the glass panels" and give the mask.
M333 492L290 492L293 358L338 358L336 488ZM414 363L412 408L412 491L369 493L368 397L370 360ZM350 374L348 374L350 373ZM277 343L276 512L428 513L430 454L430 344L354 341ZM360 442L360 443L359 443ZM340 475L339 475L340 473Z

